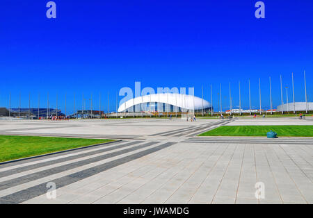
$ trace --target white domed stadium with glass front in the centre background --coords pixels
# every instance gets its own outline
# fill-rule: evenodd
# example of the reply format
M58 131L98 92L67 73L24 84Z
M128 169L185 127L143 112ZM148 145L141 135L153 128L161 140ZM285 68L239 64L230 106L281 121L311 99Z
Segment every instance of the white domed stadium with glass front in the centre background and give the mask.
M213 109L213 108L212 108ZM211 103L188 94L159 93L129 99L118 112L211 112Z

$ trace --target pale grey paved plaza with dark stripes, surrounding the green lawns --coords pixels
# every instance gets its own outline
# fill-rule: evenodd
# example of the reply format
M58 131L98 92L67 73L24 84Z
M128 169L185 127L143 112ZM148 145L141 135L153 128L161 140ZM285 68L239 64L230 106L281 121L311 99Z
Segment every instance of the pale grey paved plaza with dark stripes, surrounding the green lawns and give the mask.
M118 140L0 165L0 203L313 203L313 138L196 136L310 118L0 121L1 135Z

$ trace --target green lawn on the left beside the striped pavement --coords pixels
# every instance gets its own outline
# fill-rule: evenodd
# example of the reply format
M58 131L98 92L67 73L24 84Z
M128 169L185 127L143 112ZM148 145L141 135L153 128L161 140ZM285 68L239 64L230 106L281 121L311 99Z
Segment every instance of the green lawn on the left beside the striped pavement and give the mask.
M112 141L67 137L0 135L0 162Z

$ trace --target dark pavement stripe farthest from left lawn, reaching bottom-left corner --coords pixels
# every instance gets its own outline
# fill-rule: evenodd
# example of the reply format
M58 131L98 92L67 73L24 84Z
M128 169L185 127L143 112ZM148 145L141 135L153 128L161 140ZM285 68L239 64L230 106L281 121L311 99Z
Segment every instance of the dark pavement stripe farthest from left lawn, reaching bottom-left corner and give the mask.
M165 144L161 144L159 146L156 146L151 149L147 149L145 151L140 151L138 153L131 154L130 156L126 156L124 158L119 158L117 160L112 160L110 162L106 162L102 165L91 167L89 169L85 169L83 171L79 171L74 174L70 174L68 176L63 176L61 178L57 178L54 181L51 181L56 184L56 188L61 188L66 185L70 185L72 183L75 183L77 181L81 181L84 178L88 178L90 176L94 176L95 174L99 174L102 171L106 171L108 169L111 169L113 167L117 167L119 165L125 164L126 162L130 162L132 160L136 160L138 158L141 158L143 156L147 156L150 153L154 153L156 151L159 151L161 149L166 149L169 146L172 146L172 144L176 144L175 142L167 142ZM42 194L47 193L47 183L42 183L40 185L35 185L34 187L30 187L26 190L22 190L19 192L15 192L13 194L3 196L0 198L0 203L22 203L24 201L27 201L29 199L33 199L36 196L40 196ZM58 194L56 190L56 194Z

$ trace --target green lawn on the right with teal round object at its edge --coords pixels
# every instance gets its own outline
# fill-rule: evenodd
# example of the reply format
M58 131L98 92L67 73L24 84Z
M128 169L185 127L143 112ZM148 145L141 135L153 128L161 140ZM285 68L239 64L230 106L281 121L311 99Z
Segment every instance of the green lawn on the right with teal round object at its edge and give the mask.
M275 131L280 136L313 137L313 126L220 126L200 136L264 136Z

